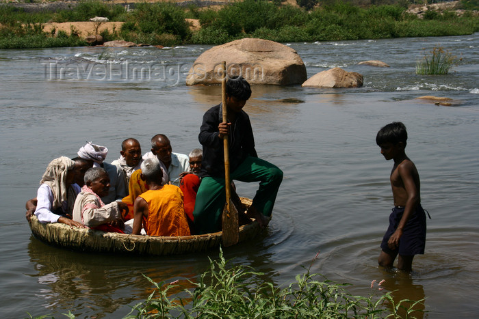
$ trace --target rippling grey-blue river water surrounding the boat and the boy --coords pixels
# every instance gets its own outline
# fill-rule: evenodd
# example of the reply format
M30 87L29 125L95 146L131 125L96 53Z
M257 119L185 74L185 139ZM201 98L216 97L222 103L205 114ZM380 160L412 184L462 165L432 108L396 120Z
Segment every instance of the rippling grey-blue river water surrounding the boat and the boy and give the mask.
M350 291L426 299L425 318L479 313L479 34L291 43L308 77L339 66L364 76L357 89L254 86L249 113L257 151L285 173L273 219L259 237L226 249L233 264L253 266L280 286L309 266ZM419 76L422 49L441 45L462 57L447 76ZM185 72L210 46L49 48L0 51L0 312L3 317L118 318L153 290L155 281L195 280L218 251L173 257L125 257L49 247L31 236L25 201L52 158L75 156L93 141L119 156L120 143L164 133L174 152L198 144L203 113L220 87L187 87ZM358 65L378 59L390 68ZM55 69L55 66L59 68ZM149 78L134 68L153 68ZM64 67L64 71L59 71ZM110 68L110 69L107 69ZM164 69L162 69L164 68ZM138 74L137 74L138 75ZM414 100L445 96L452 107ZM375 137L402 121L406 153L419 169L428 219L426 254L405 275L377 266L393 205L387 162ZM238 184L253 196L257 185ZM385 290L371 290L385 279Z

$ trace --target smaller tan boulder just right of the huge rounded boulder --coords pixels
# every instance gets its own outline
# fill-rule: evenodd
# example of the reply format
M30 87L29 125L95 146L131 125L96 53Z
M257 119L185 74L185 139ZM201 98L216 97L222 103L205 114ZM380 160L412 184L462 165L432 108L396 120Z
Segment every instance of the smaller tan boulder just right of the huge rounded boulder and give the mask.
M361 87L363 76L358 72L346 72L341 68L332 68L310 77L302 87Z

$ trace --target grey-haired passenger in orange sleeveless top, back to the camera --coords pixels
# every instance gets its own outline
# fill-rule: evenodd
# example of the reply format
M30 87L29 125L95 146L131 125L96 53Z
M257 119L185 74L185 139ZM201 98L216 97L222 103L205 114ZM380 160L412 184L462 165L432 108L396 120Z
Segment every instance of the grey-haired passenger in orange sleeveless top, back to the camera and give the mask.
M149 191L135 199L132 234L140 234L143 225L150 236L190 235L179 187L163 184L163 171L156 158L146 159L141 169Z

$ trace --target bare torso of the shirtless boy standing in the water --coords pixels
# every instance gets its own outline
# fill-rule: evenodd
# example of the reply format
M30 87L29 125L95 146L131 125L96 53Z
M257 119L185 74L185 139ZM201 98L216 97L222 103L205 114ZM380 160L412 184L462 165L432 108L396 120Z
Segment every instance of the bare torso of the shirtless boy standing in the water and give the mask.
M419 197L419 203L420 203L421 197L420 197L419 173L417 172L417 169L414 163L409 158L406 157L400 163L394 163L393 169L391 171L391 188L393 191L394 206L406 206L406 202L408 199L408 193L406 191L406 187L404 186L404 182L402 181L402 177L400 175L400 169L402 169L402 171L406 171L407 173L411 174L417 189L417 196Z

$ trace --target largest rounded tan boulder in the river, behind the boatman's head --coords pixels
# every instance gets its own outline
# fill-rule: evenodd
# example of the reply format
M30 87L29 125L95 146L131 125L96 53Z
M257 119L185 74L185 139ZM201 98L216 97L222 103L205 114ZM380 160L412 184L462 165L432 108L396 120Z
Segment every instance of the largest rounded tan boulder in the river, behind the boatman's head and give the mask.
M305 64L293 48L246 38L203 52L190 68L186 85L221 83L222 61L229 77L242 75L251 84L290 85L307 79Z

